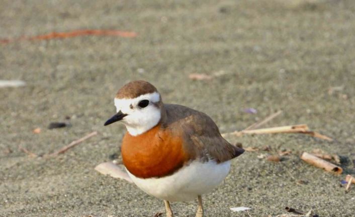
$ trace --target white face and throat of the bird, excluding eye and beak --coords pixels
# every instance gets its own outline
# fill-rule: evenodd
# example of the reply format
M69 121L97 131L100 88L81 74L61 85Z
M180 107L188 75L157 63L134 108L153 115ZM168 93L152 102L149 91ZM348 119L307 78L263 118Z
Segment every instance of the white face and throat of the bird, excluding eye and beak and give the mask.
M141 100L149 100L147 107L140 108L138 103ZM116 99L117 112L127 114L121 122L126 125L128 132L133 135L142 134L153 128L160 121L160 108L156 103L160 101L160 94L157 92L144 94L133 99Z

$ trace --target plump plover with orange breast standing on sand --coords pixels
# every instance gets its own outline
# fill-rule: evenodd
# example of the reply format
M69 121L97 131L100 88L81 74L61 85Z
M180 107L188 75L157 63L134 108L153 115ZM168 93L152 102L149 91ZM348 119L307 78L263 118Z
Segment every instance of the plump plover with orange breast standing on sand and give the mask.
M149 82L127 83L114 104L117 113L104 125L126 126L121 155L135 185L163 200L167 217L173 217L170 202L195 199L196 217L204 216L202 194L224 180L244 150L225 140L207 114L163 103Z

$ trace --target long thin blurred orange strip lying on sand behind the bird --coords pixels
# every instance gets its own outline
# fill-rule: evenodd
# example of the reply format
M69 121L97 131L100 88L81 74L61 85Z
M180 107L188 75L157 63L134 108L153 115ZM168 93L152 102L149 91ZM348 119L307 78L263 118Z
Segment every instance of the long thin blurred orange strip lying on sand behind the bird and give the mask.
M21 37L18 39L0 39L0 43L6 44L13 41L19 41L19 40L50 40L55 38L72 38L72 37L83 36L83 35L120 36L125 38L133 38L137 36L137 33L118 31L118 30L84 29L84 30L75 30L71 32L52 32L49 34L37 35L32 37Z

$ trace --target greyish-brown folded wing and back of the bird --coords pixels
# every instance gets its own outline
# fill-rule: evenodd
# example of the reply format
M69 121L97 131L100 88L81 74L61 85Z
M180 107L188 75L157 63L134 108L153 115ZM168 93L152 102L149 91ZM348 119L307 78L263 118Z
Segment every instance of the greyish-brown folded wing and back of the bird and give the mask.
M190 159L224 162L241 155L244 150L225 140L214 121L205 113L185 106L164 104L166 126L175 133L183 132L184 149Z

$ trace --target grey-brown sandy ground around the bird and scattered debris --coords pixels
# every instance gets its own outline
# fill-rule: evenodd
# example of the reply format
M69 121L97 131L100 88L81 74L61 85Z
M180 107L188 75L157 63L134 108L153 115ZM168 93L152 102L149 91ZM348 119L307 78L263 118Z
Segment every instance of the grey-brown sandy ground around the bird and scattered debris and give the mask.
M306 123L332 142L301 134L229 136L244 147L292 150L284 161L245 153L230 175L205 195L207 216L284 213L285 206L320 216L355 216L355 2L261 1L1 1L0 38L76 29L134 31L135 38L83 36L0 44L0 216L153 216L162 201L94 167L119 152L125 128L104 127L113 97L128 81L154 84L164 102L210 115L221 132L240 130L269 114L266 126ZM221 74L192 81L192 73ZM336 87L336 88L334 88ZM243 112L255 108L257 114ZM66 117L70 118L66 120ZM48 129L53 121L70 127ZM41 133L33 133L40 127ZM92 131L92 137L51 159L51 153ZM322 149L341 156L336 176L299 159ZM305 184L299 184L299 180ZM176 216L194 216L195 202L175 202Z

